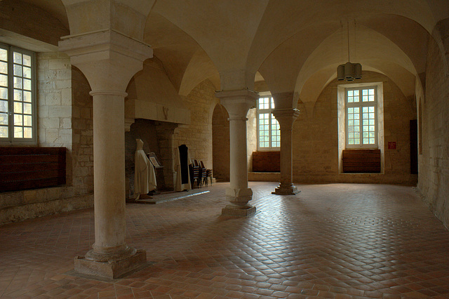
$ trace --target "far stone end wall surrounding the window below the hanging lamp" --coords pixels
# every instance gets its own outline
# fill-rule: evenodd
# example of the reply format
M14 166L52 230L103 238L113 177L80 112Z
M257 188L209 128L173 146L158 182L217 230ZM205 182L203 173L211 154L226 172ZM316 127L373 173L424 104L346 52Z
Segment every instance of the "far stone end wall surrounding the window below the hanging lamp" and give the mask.
M334 80L311 105L298 102L300 117L293 125L294 182L370 182L415 185L417 175L410 174L410 126L416 119L414 100L407 99L389 78L363 72L357 83L382 82L384 90L384 173L348 174L339 171L337 85ZM388 142L396 150L388 150Z

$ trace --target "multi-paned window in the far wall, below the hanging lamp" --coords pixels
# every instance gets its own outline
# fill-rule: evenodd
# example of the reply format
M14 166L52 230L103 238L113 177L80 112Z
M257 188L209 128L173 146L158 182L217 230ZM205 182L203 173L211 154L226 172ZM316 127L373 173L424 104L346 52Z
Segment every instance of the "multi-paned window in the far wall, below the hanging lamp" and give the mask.
M375 87L346 90L346 145L377 148L377 95Z

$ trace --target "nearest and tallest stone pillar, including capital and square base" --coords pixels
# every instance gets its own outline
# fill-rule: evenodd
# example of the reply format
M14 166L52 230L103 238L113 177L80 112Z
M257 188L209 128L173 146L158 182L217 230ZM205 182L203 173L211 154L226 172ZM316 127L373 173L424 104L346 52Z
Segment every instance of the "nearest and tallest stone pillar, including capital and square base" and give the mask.
M110 29L67 36L60 51L70 56L91 85L95 243L75 258L75 271L116 278L147 263L145 251L125 242L124 100L131 77L152 49Z

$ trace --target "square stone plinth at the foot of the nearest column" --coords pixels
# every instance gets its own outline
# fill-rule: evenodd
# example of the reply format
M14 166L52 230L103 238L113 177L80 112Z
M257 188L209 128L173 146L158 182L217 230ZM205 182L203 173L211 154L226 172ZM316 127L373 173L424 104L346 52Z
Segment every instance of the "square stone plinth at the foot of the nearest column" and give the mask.
M83 256L77 256L75 258L74 270L81 274L116 279L146 264L147 253L144 250L138 250L133 255L121 260L109 260L106 262L88 260Z

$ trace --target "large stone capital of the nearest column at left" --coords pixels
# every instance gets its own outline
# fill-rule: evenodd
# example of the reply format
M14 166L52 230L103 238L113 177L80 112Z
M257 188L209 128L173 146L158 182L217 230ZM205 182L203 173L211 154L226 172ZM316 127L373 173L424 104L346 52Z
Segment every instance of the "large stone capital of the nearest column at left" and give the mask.
M153 57L149 45L114 29L63 36L59 49L81 69L93 91L125 91L142 62Z

